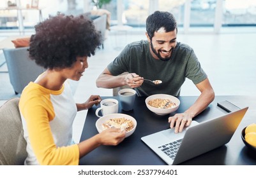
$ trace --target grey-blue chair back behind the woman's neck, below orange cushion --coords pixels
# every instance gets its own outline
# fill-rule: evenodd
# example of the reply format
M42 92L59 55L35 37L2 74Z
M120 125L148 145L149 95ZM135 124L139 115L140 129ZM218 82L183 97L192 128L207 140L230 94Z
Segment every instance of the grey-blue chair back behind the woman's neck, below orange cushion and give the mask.
M34 81L45 69L29 58L28 47L4 48L4 57L8 68L10 82L15 93L22 90L30 81Z

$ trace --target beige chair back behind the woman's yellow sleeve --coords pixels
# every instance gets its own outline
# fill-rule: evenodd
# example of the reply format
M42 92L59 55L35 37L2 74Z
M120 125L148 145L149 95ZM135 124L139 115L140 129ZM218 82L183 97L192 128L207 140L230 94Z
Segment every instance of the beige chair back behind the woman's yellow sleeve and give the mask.
M24 165L27 142L19 111L19 98L0 107L0 165Z

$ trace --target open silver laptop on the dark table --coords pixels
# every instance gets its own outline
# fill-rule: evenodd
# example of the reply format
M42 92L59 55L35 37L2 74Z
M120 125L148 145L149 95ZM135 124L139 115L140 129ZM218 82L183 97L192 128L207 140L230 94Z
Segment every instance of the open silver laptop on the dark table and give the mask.
M174 128L169 128L141 139L168 165L177 165L227 144L247 109L245 107L202 123L192 121L178 134L174 133Z

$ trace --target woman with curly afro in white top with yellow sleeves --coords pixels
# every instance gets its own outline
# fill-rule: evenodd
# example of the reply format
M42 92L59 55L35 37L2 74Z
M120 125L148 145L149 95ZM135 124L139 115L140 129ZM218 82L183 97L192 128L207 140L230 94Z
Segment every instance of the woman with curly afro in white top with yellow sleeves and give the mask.
M84 17L58 13L35 26L29 56L47 69L24 88L20 113L27 140L26 165L78 165L79 158L101 145L117 145L125 132L105 130L79 144L72 140L72 124L77 111L100 103L91 95L75 104L67 79L79 81L88 67L87 57L101 44L93 22Z

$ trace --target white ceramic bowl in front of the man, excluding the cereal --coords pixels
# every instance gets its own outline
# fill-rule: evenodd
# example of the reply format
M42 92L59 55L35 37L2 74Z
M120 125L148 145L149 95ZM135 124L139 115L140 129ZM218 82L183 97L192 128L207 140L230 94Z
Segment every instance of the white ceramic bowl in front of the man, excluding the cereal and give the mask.
M148 104L148 102L149 102L149 100L153 100L153 99L169 99L170 101L172 101L176 104L176 107L161 109L161 108L156 108L156 107L150 106ZM166 114L170 114L170 113L176 111L179 108L179 104L181 103L179 101L179 99L177 99L176 97L174 97L172 95L166 95L166 94L151 95L146 98L145 102L146 102L147 108L150 111L152 111L153 113L156 113L158 115L166 115Z

